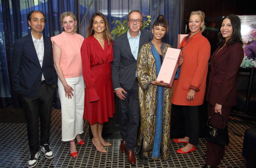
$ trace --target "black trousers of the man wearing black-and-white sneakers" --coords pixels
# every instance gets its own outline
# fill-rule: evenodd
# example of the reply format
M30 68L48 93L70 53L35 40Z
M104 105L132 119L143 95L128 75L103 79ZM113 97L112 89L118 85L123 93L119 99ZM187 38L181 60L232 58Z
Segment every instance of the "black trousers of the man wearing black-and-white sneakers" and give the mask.
M40 145L49 144L50 122L56 87L42 83L37 96L28 98L20 94L20 102L27 121L30 152L39 151L38 118L41 122Z

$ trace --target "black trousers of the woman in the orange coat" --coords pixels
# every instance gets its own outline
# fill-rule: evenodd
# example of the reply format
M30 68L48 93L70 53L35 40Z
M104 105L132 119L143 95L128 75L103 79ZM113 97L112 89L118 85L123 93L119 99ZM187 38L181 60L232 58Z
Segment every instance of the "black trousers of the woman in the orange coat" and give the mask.
M189 144L197 145L199 137L198 106L181 106L184 122L185 136L189 137Z

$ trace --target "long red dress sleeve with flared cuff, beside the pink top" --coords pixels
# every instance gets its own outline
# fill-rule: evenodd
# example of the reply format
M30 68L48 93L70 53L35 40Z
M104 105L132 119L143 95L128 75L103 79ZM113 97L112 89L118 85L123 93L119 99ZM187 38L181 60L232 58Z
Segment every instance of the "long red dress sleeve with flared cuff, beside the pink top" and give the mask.
M85 39L81 46L81 57L82 57L82 66L83 66L83 78L86 85L85 94L89 98L89 102L95 102L99 100L96 89L94 88L95 79L93 73L91 72L90 66L90 41Z

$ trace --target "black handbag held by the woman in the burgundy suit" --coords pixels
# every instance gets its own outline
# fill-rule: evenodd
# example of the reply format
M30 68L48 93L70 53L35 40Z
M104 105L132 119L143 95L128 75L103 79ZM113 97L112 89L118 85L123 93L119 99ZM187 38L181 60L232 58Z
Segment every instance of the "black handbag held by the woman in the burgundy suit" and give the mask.
M227 146L229 144L229 132L227 130L227 123L224 121L223 115L218 113L222 116L224 128L215 128L212 126L210 119L215 114L216 113L214 112L214 114L212 114L207 120L206 140L220 146Z

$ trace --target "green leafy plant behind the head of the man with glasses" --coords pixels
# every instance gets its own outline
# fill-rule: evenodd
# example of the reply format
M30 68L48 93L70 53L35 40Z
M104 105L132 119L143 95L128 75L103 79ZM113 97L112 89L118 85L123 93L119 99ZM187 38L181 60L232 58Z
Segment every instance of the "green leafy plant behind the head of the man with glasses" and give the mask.
M149 26L150 22L152 22L152 21L151 21L151 16L148 15L148 16L147 16L147 20L145 20L145 21L142 23L141 29L144 29L144 28L146 28L147 26ZM127 20L124 20L123 23L121 23L120 20L116 20L116 21L113 21L111 24L113 24L113 23L116 24L116 28L111 31L111 34L113 35L113 40L114 40L116 37L118 37L118 36L124 34L124 33L129 29Z

